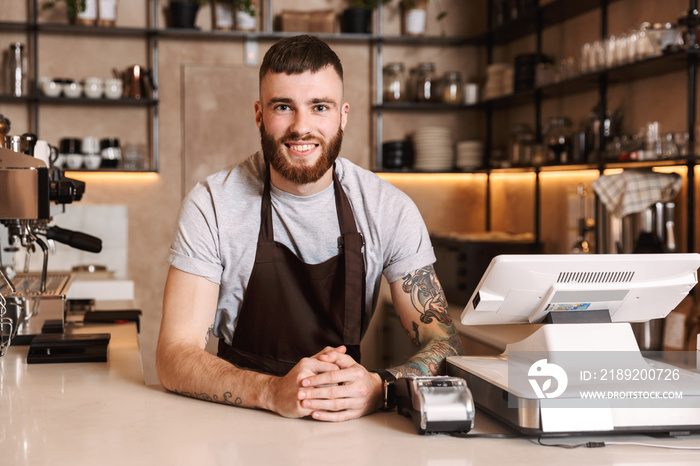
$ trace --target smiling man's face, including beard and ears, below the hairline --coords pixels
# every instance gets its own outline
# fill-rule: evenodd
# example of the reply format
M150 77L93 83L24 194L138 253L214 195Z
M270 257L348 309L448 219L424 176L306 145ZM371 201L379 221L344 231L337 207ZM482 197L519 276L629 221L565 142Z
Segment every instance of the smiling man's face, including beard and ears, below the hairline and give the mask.
M333 166L349 109L342 97L342 81L330 66L263 78L255 120L265 159L283 178L313 183Z

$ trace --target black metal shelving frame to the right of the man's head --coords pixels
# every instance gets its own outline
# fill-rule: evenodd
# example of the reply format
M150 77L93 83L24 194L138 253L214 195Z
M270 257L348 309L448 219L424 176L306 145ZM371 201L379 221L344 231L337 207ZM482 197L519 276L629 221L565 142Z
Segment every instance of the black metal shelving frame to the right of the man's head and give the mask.
M486 48L487 63L493 61L493 49L496 46L507 45L508 43L521 39L527 36L535 35L536 50L535 53L542 54L542 33L545 29L552 27L557 24L564 23L568 20L574 19L584 13L589 13L594 10L600 11L600 28L599 36L601 39L605 39L608 35L608 8L610 4L615 3L618 0L556 0L550 2L546 5L535 7L532 11L522 14L519 18L508 22L502 26L489 27L489 29L481 34L464 37L464 38L451 38L451 40L445 42L444 45L450 46L467 46L467 45L477 45ZM697 0L689 0L688 15L689 21L697 21ZM493 2L488 3L488 17L489 21L492 18L493 11L491 9ZM380 8L381 12L381 8ZM690 28L692 34L689 35L688 42L690 44L697 44L697 38L694 34L694 28ZM696 45L687 46L687 50L666 53L662 56L647 58L634 63L625 64L623 66L618 66L611 69L606 69L602 71L596 71L591 73L586 73L573 77L571 79L566 79L560 81L556 84L546 85L538 87L532 90L517 92L510 95L501 96L498 98L490 99L488 101L482 101L474 105L445 105L445 104L420 104L420 103L382 103L381 96L381 47L383 43L388 43L388 40L384 40L381 37L381 30L378 33L378 38L376 41L377 48L377 64L376 64L376 85L378 88L377 93L377 104L372 107L372 110L377 116L377 130L376 130L376 151L377 157L375 160L376 167L379 171L379 167L382 166L382 154L381 154L381 144L382 144L382 114L383 112L419 112L422 110L430 111L465 111L474 110L483 112L486 119L486 137L485 137L485 155L486 160L484 163L484 168L469 171L469 173L486 173L487 175L487 187L486 187L486 229L491 229L491 196L490 196L490 175L491 173L509 173L509 172L534 172L535 173L535 205L533 215L535 217L535 240L540 242L541 232L540 232L540 218L541 218L541 189L540 189L540 174L544 172L553 171L577 171L577 170L598 170L601 174L608 168L652 168L652 167L666 167L666 166L685 166L687 167L687 245L688 251L695 250L695 172L694 167L697 164L697 155L691 151L688 157L678 158L674 160L659 160L659 161L603 161L594 164L576 164L576 165L550 165L550 166L539 166L539 167L519 167L512 169L492 169L489 168L488 154L490 154L491 144L492 144L492 125L494 112L497 110L507 110L511 108L516 108L520 106L531 106L533 107L535 115L535 134L537 137L541 137L542 131L542 115L541 107L543 102L548 99L557 99L564 96L570 96L574 94L580 94L590 91L597 91L598 98L601 102L599 111L599 118L604 119L606 114L606 103L607 103L607 93L610 86L628 83L637 80L647 79L654 76L687 71L687 87L688 87L688 105L687 105L687 118L688 118L688 135L689 135L689 145L691 148L695 147L695 135L694 128L696 123L696 89L697 89L697 67L698 67L698 53L700 53L700 48ZM434 38L392 38L392 44L402 44L402 45L425 45L429 44ZM602 129L601 129L602 131ZM602 136L602 135L601 135ZM604 144L603 137L598 138L601 141L601 145ZM599 147L599 150L603 150L604 147ZM461 173L461 172L457 172ZM600 241L596 241L596 244L600 244Z

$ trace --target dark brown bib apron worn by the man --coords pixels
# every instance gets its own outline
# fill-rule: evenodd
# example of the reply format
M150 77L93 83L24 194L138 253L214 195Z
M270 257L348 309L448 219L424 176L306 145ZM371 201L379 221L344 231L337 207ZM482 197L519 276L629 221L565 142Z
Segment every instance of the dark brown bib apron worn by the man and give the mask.
M364 239L335 167L333 186L340 252L320 264L307 264L274 240L268 170L255 265L232 344L220 340L219 357L279 376L326 346L345 345L360 362L360 339L370 320L365 316Z

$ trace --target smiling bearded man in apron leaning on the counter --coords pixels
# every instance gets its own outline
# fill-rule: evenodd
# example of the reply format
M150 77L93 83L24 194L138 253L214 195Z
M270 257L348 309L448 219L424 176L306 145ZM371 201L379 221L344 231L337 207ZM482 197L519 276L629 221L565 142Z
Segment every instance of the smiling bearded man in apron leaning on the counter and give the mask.
M461 344L413 202L338 157L350 106L320 39L281 39L260 67L262 153L183 201L157 349L175 393L285 417L344 421L391 408L397 377L437 375ZM417 353L368 371L360 341L381 276ZM219 338L218 354L205 350Z

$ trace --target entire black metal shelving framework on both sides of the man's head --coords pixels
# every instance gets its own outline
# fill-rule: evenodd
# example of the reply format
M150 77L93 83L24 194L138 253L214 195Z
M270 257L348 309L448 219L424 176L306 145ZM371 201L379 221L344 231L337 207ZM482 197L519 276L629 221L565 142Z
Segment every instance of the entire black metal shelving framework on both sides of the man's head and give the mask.
M80 106L135 106L150 109L152 112L151 127L151 170L158 170L158 41L170 39L182 40L203 40L203 41L275 41L279 38L292 35L294 33L276 32L273 29L272 1L262 0L262 20L261 31L220 31L220 30L186 30L173 28L160 28L158 26L158 2L149 0L150 5L150 25L145 28L124 28L124 27L87 27L74 26L68 24L46 24L37 21L38 0L30 0L32 5L31 20L27 22L0 22L0 29L4 31L24 31L27 33L32 44L34 78L37 73L37 47L38 36L44 34L55 35L85 35L91 37L133 37L142 38L148 41L150 53L150 65L153 72L155 93L152 99L120 99L109 101L107 99L65 99L49 98L38 95L36 92L25 97L13 97L0 95L0 102L15 102L27 104L33 109L34 129L38 130L39 115L38 108L48 105L80 105ZM617 0L555 0L541 7L537 7L530 12L521 15L518 19L508 24L491 28L486 32L466 37L409 37L409 36L385 36L382 31L382 7L377 8L377 26L373 34L319 34L322 39L334 43L349 43L362 46L369 46L374 51L374 84L376 86L375 104L371 111L375 114L375 168L380 170L382 166L382 126L385 114L399 112L411 113L421 111L431 112L464 112L476 111L485 115L487 121L485 153L490 152L492 139L492 127L494 111L504 110L519 106L532 106L535 112L535 122L537 125L536 134L541 134L541 106L548 99L556 99L563 96L579 94L590 91L598 91L599 99L602 103L600 112L605 116L605 103L607 101L608 88L618 83L632 82L646 79L662 74L687 71L688 105L687 120L690 147L694 147L695 135L694 127L696 123L696 89L697 89L697 67L699 51L696 47L691 47L690 51L680 51L669 53L660 57L653 57L619 66L604 71L587 73L574 78L543 86L537 89L518 92L507 96L479 102L473 105L452 105L452 104L423 104L423 103L384 103L382 100L382 68L383 68L383 48L385 46L440 46L440 47L485 47L487 62L492 61L492 50L496 46L506 45L514 40L535 35L536 53L542 53L542 32L543 30L557 24L561 24L584 13L594 10L600 11L600 37L607 36L608 8ZM489 5L491 5L489 1ZM689 0L689 14L697 10L697 0ZM491 11L489 8L489 18ZM692 15L690 15L693 20ZM695 34L690 34L689 42L695 44L697 38ZM602 138L599 138L602 140ZM578 165L552 165L541 167L521 167L517 169L490 169L488 160L486 168L469 171L468 173L485 173L487 175L487 217L486 229L491 228L491 198L490 198L490 174L500 172L534 172L535 173L535 206L533 215L535 217L535 238L540 241L540 174L551 171L577 171L577 170L599 170L603 173L607 168L638 168L638 167L659 167L659 166L686 166L688 169L687 183L687 250L695 249L695 173L694 167L697 163L697 154L691 153L689 157L653 162L602 162L597 164ZM463 173L462 171L457 173ZM599 243L599 241L597 241Z

